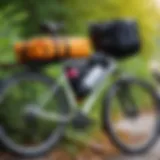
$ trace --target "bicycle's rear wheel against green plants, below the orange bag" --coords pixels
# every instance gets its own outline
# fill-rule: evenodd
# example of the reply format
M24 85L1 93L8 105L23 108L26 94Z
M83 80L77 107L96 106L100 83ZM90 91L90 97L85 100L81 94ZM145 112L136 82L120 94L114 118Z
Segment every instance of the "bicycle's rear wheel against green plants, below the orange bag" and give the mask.
M9 151L37 157L57 145L66 123L35 118L26 110L43 108L47 113L64 116L69 106L61 93L58 84L37 72L21 73L4 83L0 90L0 139Z

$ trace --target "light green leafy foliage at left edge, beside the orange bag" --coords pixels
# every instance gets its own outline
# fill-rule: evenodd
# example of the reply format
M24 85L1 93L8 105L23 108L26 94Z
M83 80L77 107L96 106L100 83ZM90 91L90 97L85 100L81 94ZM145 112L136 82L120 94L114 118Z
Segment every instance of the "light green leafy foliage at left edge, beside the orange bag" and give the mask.
M26 17L25 13L12 14L14 6L0 11L0 56L1 62L15 60L13 44L20 38L22 27L19 24Z

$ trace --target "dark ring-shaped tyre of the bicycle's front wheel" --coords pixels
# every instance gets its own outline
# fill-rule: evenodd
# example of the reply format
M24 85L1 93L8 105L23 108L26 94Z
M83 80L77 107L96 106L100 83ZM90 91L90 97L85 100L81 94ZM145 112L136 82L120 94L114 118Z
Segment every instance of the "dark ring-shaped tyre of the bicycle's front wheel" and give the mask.
M121 83L125 84L132 84L132 83L137 83L139 86L145 88L148 90L148 92L152 95L154 101L156 102L155 106L155 112L156 112L156 127L154 130L154 135L150 139L150 141L143 146L142 148L138 149L131 149L128 148L125 144L120 142L117 139L117 136L115 135L113 128L110 123L110 115L109 115L109 108L111 107L111 99L112 96L115 94L117 87L121 86ZM158 137L159 137L159 114L160 114L160 102L159 102L159 96L158 93L155 91L155 89L147 82L143 80L138 80L135 78L126 78L126 79L119 79L117 82L115 82L111 88L109 89L109 92L107 93L106 97L104 98L104 104L103 104L103 110L102 110L102 124L103 124L103 129L105 134L109 137L110 141L113 143L113 145L116 146L117 149L119 149L122 153L124 154L129 154L129 155L138 155L138 154L143 154L156 143Z

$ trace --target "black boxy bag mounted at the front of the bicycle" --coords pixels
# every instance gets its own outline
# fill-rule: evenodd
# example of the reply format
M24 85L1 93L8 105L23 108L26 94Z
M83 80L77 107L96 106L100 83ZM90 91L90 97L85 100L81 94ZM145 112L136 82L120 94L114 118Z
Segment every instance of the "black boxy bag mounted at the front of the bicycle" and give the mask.
M121 59L140 50L138 25L134 20L115 20L92 24L90 37L96 50Z

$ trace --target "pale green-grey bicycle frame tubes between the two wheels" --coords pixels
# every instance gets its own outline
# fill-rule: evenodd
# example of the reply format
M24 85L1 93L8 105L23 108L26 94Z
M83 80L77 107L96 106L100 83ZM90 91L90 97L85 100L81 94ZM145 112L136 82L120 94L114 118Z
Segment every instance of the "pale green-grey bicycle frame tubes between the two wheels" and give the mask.
M94 90L92 91L92 93L84 100L83 106L81 106L81 112L84 113L85 115L89 114L90 111L93 108L93 104L97 101L99 95L101 94L104 86L106 85L107 79L109 78L109 75L112 74L115 70L116 70L116 62L114 61L114 59L111 59L110 57L107 58L107 60L109 61L109 65L105 70L105 74L103 75L103 77L101 78L99 84L97 86L95 86ZM66 62L67 63L67 62ZM45 94L45 100L44 98L40 98L38 100L38 102L40 102L40 109L32 109L32 113L36 114L36 116L39 116L40 118L46 119L46 120L51 120L51 121L59 121L59 122L68 122L70 121L73 116L75 115L75 112L79 109L79 104L77 103L77 99L75 97L75 94L68 82L67 77L64 74L64 67L65 65L62 65L61 67L61 75L60 75L60 79L59 84L61 87L63 87L64 89L64 93L65 96L67 98L67 101L69 102L69 107L71 107L71 114L67 115L67 116L62 116L62 115L58 115L55 113L48 113L44 110L44 106L45 104L48 102L48 100L53 97L53 94L55 94L56 89L55 86L53 86L53 90L52 93L46 93ZM44 94L43 94L44 97ZM42 101L43 100L43 101Z

